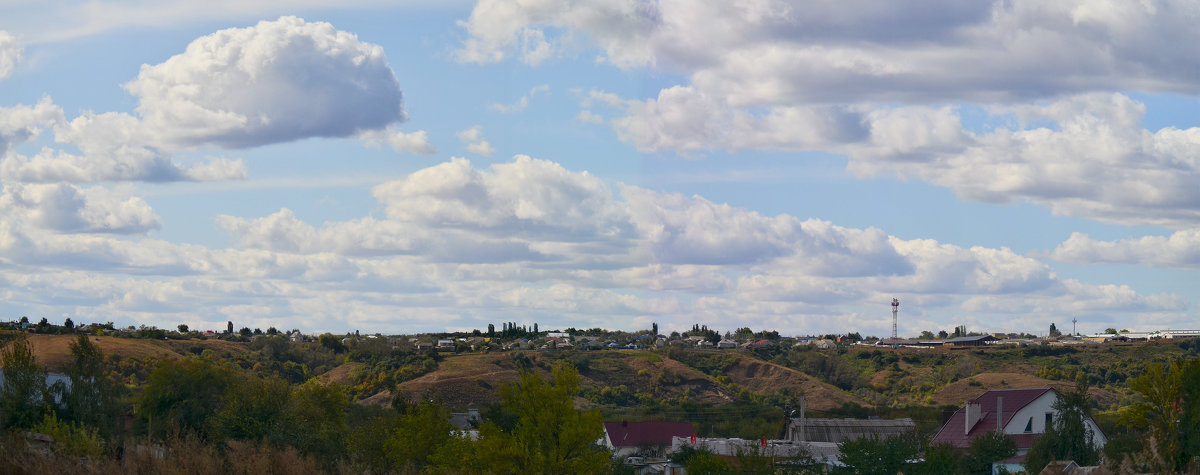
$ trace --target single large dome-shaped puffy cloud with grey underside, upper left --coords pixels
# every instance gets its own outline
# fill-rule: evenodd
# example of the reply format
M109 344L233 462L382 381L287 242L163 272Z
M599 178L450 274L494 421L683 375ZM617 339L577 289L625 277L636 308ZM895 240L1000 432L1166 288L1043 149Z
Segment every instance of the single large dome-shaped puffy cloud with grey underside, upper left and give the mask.
M296 17L200 37L125 89L144 127L184 144L348 137L404 120L383 48Z

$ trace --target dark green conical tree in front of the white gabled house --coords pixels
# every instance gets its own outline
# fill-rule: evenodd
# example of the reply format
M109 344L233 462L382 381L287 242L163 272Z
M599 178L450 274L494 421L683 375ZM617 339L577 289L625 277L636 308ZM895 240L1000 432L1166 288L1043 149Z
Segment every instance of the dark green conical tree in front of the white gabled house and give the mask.
M1052 405L1056 413L1054 421L1045 433L1033 440L1025 456L1025 469L1036 474L1050 461L1075 461L1080 465L1099 462L1100 450L1096 446L1092 429L1087 427L1091 404L1086 380L1080 380L1074 390L1058 396Z

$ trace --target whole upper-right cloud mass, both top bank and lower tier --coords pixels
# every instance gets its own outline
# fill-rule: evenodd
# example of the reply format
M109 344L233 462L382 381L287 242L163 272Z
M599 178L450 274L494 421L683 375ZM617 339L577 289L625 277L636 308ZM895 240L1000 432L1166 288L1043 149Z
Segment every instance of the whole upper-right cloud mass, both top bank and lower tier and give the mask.
M488 0L462 23L460 58L600 50L678 73L652 97L583 101L582 120L594 102L616 107L618 137L643 152L828 151L858 175L964 199L1187 228L1200 222L1200 130L1146 131L1140 103L1097 91L1200 92L1196 20L1182 0ZM964 126L961 107L989 124Z

